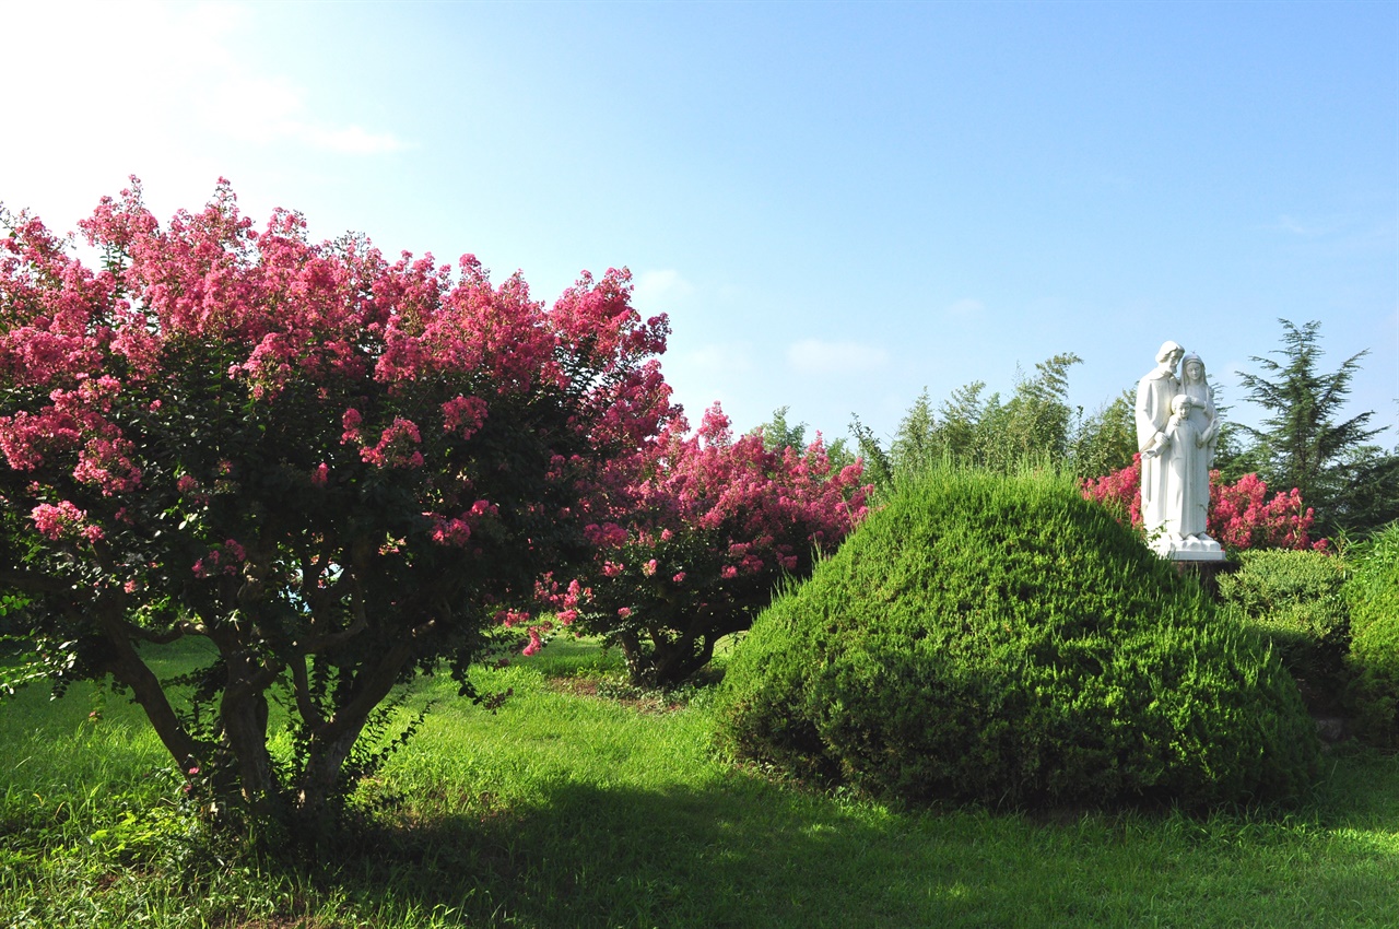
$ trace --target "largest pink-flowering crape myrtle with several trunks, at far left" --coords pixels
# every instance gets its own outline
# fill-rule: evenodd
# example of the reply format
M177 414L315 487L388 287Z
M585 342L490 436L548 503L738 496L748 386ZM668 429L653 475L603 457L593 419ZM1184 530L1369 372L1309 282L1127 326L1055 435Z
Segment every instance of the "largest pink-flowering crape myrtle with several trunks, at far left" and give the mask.
M165 227L139 183L104 199L95 270L4 220L0 592L55 674L133 694L215 809L333 809L395 683L443 663L474 694L498 617L523 641L537 576L590 555L597 463L677 413L667 322L624 270L546 309L471 256L316 245L281 210L256 231L227 182ZM214 655L193 711L147 663L190 637Z

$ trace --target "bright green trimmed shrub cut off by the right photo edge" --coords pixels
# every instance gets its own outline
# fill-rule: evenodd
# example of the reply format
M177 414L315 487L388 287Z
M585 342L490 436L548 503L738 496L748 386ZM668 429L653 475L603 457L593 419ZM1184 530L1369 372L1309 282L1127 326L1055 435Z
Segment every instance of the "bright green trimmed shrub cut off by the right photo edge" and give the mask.
M1399 747L1399 522L1356 548L1344 592L1357 735Z

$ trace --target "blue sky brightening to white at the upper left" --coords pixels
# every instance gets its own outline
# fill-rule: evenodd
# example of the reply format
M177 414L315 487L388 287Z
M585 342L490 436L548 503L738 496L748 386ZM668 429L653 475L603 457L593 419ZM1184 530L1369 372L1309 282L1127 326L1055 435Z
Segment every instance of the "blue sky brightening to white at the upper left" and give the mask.
M1279 318L1399 421L1399 3L0 0L0 36L10 208L222 175L540 299L625 264L693 421L888 435L1060 351L1091 411L1165 339L1256 421Z

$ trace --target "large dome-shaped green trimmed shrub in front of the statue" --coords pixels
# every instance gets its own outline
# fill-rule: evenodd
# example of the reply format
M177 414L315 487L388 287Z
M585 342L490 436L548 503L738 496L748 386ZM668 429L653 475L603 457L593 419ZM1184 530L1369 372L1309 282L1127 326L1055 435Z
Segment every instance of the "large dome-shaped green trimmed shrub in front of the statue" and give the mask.
M1283 800L1319 758L1266 645L1052 474L897 485L716 701L734 756L914 802Z

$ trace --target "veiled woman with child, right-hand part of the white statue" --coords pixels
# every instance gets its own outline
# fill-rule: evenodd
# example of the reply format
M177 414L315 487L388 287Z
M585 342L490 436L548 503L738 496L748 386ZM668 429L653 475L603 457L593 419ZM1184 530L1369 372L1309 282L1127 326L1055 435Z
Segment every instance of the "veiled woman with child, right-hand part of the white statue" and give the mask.
M1191 353L1182 358L1181 392L1171 399L1171 418L1164 432L1165 533L1172 540L1199 539L1206 533L1210 506L1210 467L1219 439L1214 392L1205 381L1205 362Z

